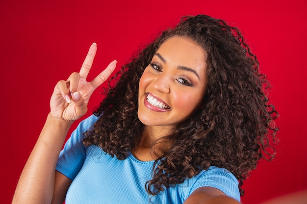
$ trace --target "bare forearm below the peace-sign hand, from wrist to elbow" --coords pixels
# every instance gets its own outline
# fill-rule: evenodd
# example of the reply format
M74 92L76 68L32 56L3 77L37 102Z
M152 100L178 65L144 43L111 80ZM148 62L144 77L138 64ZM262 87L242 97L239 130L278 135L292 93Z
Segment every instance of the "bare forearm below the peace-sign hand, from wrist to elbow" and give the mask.
M12 204L51 203L55 165L71 123L48 115L26 162Z

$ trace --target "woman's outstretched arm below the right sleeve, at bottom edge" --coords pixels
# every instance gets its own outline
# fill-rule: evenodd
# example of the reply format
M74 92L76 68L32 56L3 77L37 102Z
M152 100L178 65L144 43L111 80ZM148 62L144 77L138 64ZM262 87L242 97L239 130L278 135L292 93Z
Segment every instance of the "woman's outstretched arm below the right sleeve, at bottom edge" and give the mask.
M240 204L222 191L212 187L201 187L185 200L184 204Z

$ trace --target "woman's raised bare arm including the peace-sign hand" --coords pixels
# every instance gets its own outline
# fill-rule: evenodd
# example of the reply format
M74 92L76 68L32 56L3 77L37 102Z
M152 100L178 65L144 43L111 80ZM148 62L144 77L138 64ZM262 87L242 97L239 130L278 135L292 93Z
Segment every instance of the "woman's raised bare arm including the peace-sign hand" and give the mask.
M116 67L113 61L93 81L86 77L92 66L97 46L91 45L80 72L59 81L50 100L43 130L26 162L18 181L12 204L62 204L71 180L55 171L56 162L72 123L87 112L93 91Z

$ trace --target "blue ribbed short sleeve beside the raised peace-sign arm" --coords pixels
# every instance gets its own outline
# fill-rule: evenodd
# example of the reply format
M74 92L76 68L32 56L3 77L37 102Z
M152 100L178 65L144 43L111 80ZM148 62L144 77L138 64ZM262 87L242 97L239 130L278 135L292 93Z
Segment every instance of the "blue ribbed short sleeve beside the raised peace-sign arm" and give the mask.
M89 130L99 117L91 115L77 126L60 152L55 170L70 180L74 180L85 160L86 147L83 145L83 133Z

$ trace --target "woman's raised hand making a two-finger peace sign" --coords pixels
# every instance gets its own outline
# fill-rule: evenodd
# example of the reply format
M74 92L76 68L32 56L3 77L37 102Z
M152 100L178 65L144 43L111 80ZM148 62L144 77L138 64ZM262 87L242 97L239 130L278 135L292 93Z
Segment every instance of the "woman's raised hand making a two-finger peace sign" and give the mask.
M61 80L56 84L50 100L51 115L53 117L73 122L83 116L87 112L87 104L92 93L114 71L116 61L111 62L93 81L86 81L96 50L97 45L93 43L80 72L74 72L66 81Z

